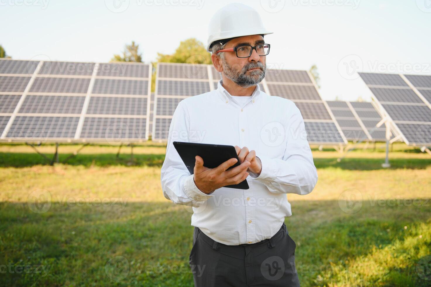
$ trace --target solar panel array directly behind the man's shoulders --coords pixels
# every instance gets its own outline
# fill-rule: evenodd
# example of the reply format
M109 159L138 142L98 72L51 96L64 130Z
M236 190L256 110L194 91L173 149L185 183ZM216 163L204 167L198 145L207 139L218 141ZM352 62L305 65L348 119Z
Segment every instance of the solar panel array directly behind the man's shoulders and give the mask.
M220 79L220 73L212 65L158 63L152 138L166 140L178 103L216 89ZM310 143L347 143L306 71L267 70L259 86L269 95L295 102L303 115Z

